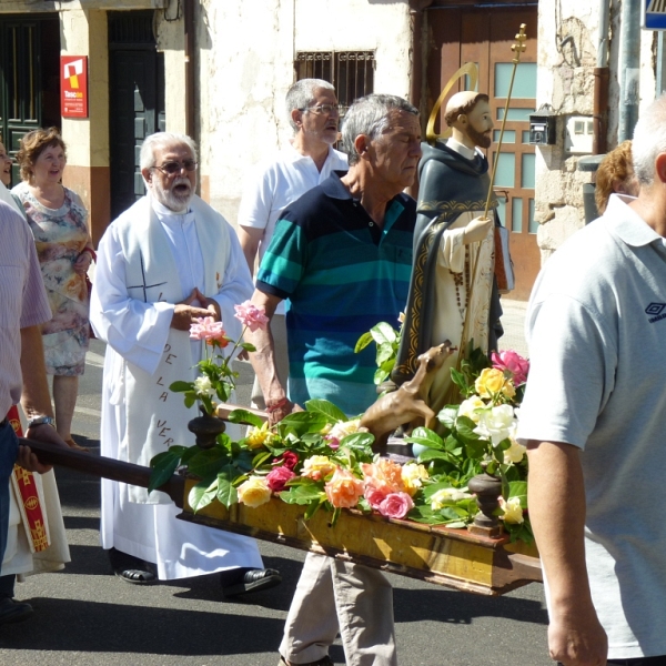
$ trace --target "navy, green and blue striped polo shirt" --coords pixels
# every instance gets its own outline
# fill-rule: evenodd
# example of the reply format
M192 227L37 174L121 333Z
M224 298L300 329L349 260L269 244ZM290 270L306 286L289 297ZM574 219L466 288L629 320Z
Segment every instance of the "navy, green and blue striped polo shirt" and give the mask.
M380 229L335 172L282 213L256 287L286 301L289 396L330 400L349 415L375 400L375 349L354 353L379 322L397 327L412 272L416 204L398 194Z

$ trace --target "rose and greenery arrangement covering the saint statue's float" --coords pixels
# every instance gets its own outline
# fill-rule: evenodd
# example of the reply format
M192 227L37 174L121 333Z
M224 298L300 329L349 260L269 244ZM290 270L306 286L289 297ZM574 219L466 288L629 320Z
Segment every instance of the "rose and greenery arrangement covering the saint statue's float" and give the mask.
M236 310L251 330L265 326L263 313L251 311L248 303ZM213 351L233 342L219 322L203 320L192 329L191 335L205 340ZM394 342L387 336L383 343ZM253 350L246 343L234 343L236 347ZM199 400L212 414L215 398L228 400L238 376L228 359L206 357L199 363L200 377L171 389L184 392L190 405ZM438 433L417 427L406 438L423 447L413 462L381 458L372 450L373 435L359 426L360 420L347 420L327 401L311 400L305 411L274 426L246 410L231 412L230 421L251 425L245 437L234 442L222 433L208 450L171 446L152 460L149 491L185 466L200 478L189 496L195 512L214 501L226 507L235 503L258 507L278 496L306 506L306 518L323 507L333 512L335 522L343 508L356 508L389 518L464 527L478 512L467 484L486 471L502 478L498 517L512 539L531 542L525 448L515 441L515 407L527 370L527 362L515 352L493 354L492 363L481 350L471 352L461 370L452 371L462 404L442 410Z

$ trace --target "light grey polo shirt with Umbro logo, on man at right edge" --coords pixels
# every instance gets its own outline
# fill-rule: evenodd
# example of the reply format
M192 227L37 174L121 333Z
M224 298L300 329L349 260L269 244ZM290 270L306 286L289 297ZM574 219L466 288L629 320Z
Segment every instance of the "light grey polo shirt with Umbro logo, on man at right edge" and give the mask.
M583 450L587 571L615 659L666 655L666 246L623 199L537 279L518 424L523 441Z

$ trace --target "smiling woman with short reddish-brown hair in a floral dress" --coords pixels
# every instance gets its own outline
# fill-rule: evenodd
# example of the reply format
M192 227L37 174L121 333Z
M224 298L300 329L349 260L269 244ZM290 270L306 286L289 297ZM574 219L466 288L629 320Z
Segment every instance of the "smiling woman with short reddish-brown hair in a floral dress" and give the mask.
M17 160L23 182L12 193L28 215L53 313L42 336L47 372L53 375L56 426L72 448L82 448L72 440L71 425L90 334L85 274L94 250L88 211L60 182L67 153L56 128L28 132Z

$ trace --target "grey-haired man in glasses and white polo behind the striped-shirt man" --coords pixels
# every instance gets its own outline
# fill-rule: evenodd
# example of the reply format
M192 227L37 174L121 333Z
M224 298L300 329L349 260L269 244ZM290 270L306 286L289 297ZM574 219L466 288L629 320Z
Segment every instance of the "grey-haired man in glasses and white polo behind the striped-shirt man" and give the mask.
M254 274L259 260L273 238L280 213L305 192L325 181L332 171L346 171L347 159L335 150L337 141L337 98L335 89L321 79L296 81L286 93L286 112L294 130L291 143L272 160L261 163L248 182L239 211L239 239ZM271 320L278 375L286 386L289 360L284 303ZM252 387L252 402L266 408L259 382Z

